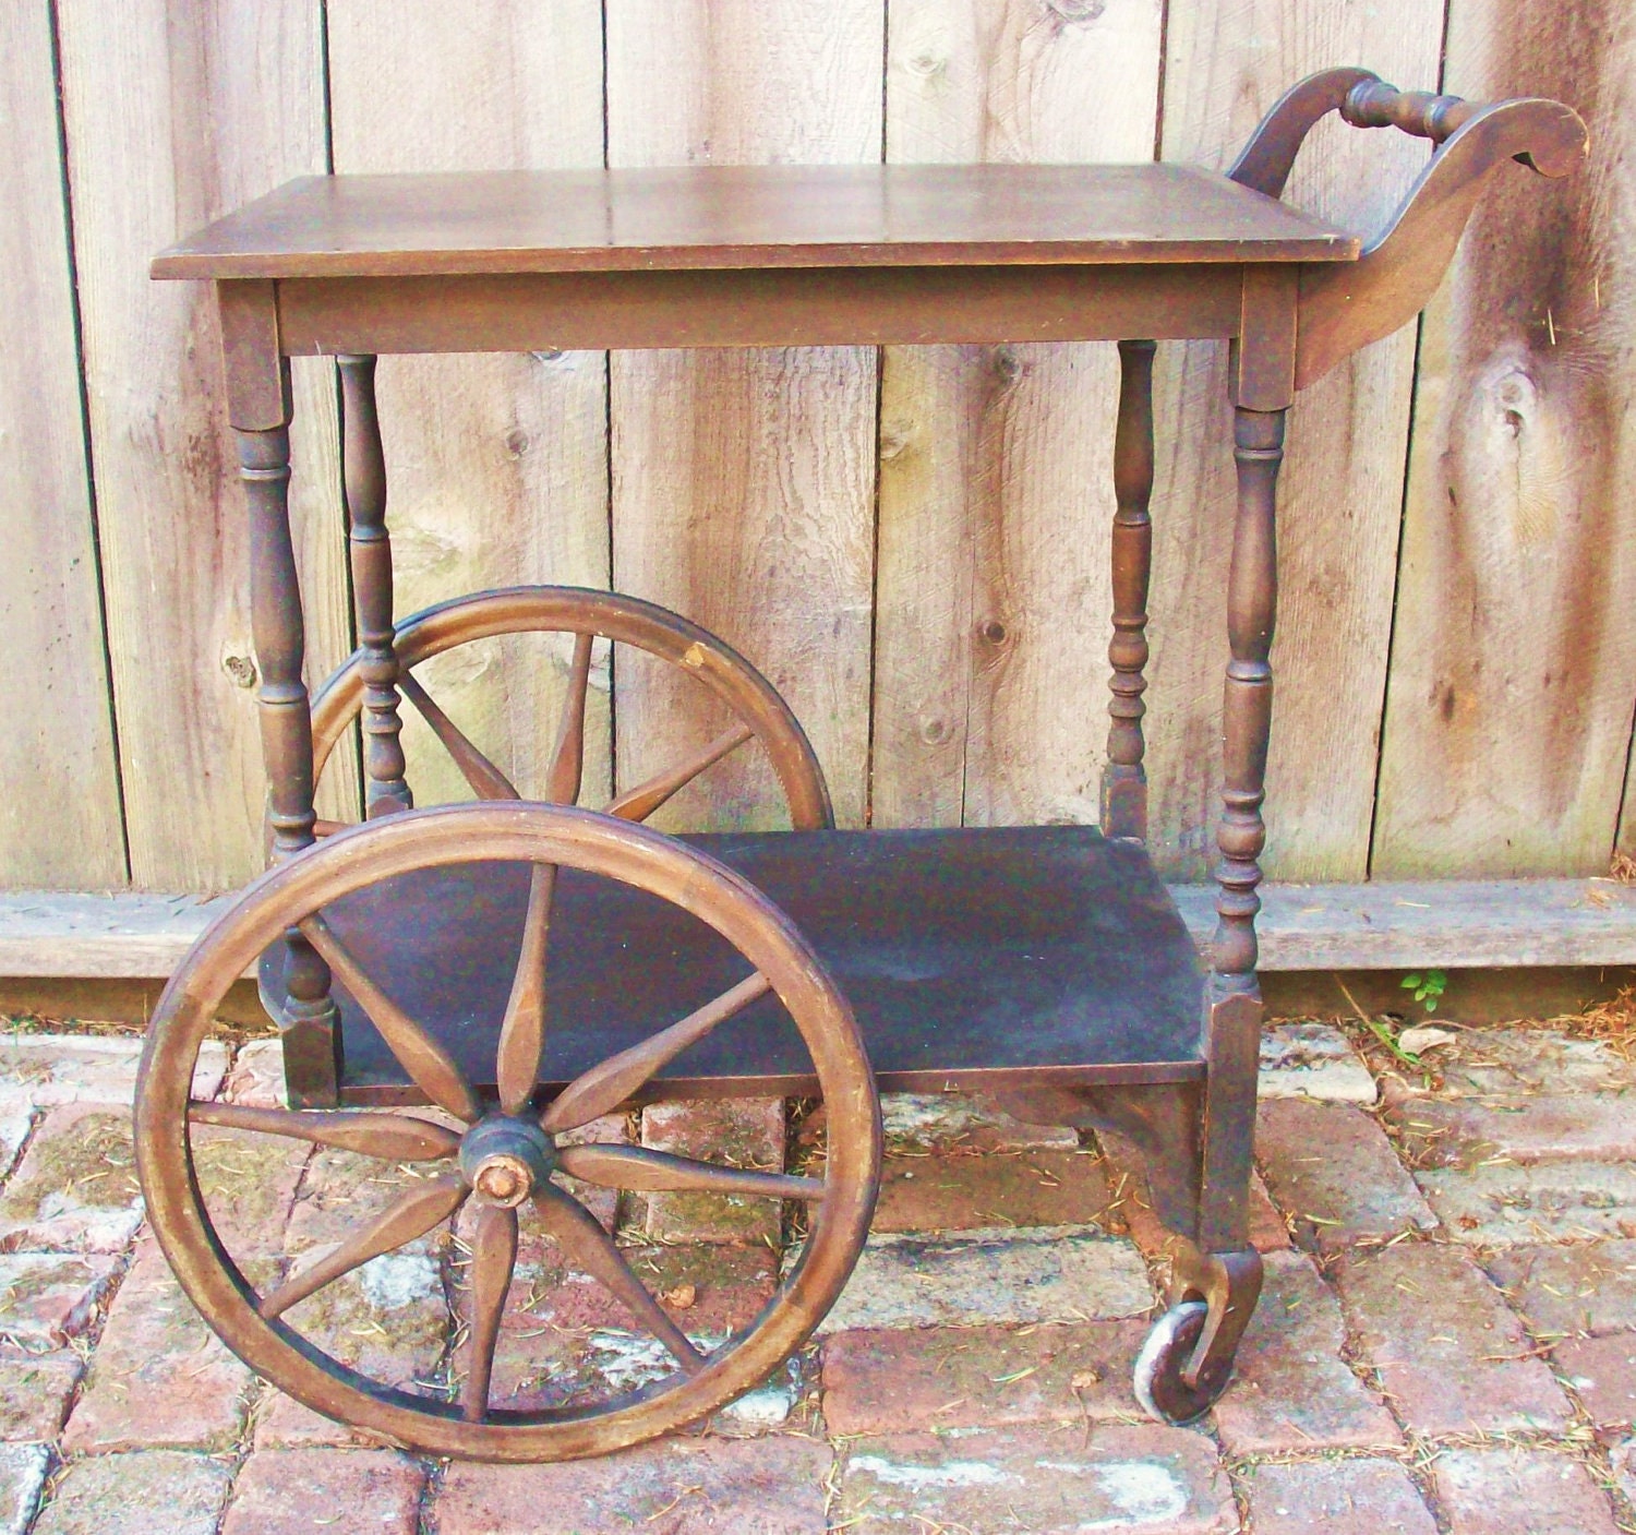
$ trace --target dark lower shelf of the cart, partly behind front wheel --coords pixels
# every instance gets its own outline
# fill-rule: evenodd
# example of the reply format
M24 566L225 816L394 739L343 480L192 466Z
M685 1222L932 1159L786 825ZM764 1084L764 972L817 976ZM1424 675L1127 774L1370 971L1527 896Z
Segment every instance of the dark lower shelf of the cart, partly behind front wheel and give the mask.
M1145 851L1094 826L687 838L769 895L857 1016L883 1090L1202 1075L1202 972ZM388 995L492 1085L528 895L524 864L417 871L326 908ZM281 995L281 949L263 980ZM749 974L697 918L563 871L546 956L550 1093ZM342 1098L416 1093L337 988ZM764 997L671 1062L648 1096L803 1093L810 1057Z

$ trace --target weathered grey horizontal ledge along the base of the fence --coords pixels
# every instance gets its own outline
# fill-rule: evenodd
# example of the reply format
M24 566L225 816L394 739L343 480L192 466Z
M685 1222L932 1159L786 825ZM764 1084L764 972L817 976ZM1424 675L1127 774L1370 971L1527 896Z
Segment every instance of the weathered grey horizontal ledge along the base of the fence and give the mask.
M1173 885L1194 939L1214 890ZM1265 885L1265 970L1636 964L1636 885L1610 879ZM169 975L231 895L0 895L0 977Z

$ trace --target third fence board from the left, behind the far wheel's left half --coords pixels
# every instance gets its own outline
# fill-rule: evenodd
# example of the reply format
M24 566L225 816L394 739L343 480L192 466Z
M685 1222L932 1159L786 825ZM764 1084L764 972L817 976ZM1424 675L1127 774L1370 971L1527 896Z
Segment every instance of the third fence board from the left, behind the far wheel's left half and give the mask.
M330 0L337 172L602 164L596 0ZM396 617L519 581L609 584L600 352L386 357L378 373ZM525 797L545 795L573 638L483 640L417 677ZM586 802L612 792L607 648L587 717ZM412 707L419 805L471 799Z

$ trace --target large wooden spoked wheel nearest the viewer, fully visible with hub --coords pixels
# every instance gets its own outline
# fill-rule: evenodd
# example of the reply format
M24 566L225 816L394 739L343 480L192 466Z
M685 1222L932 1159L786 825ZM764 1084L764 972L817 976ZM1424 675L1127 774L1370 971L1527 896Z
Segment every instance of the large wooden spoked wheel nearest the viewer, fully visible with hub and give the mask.
M326 921L326 907L378 880L447 864L532 866L527 918L501 1024L497 1103L483 1101L424 1021L391 1000L391 977L365 972ZM641 1042L581 1072L533 1105L550 1021L546 934L558 869L584 871L682 907L743 959L744 979ZM578 877L578 876L576 876ZM337 985L363 1006L425 1098L447 1118L396 1111L283 1111L190 1101L213 1013L260 952L299 928ZM617 1110L672 1057L764 993L789 1011L823 1092L829 1152L821 1178L746 1172L635 1146L574 1146L574 1128ZM746 1024L748 1026L748 1024ZM420 1177L319 1257L240 1267L211 1222L195 1172L193 1131L226 1126L409 1164ZM208 1131L206 1134L221 1134ZM137 1167L154 1231L209 1324L254 1370L330 1417L434 1455L563 1460L636 1443L687 1424L759 1384L797 1350L846 1283L874 1209L880 1118L857 1024L789 918L753 885L645 826L558 805L453 805L340 833L270 871L218 918L172 977L154 1015L136 1105ZM268 1142L275 1146L276 1142ZM283 1142L288 1146L288 1141ZM602 1224L558 1180L633 1190L708 1190L803 1201L808 1236L772 1299L715 1347L689 1339L649 1294ZM422 1389L348 1368L301 1332L301 1303L371 1258L420 1244L466 1211L466 1345L448 1378ZM528 1226L623 1304L667 1352L667 1373L589 1404L538 1411L491 1402L507 1290ZM245 1270L255 1273L255 1281ZM267 1276L263 1276L267 1275ZM416 1383L417 1386L420 1383Z

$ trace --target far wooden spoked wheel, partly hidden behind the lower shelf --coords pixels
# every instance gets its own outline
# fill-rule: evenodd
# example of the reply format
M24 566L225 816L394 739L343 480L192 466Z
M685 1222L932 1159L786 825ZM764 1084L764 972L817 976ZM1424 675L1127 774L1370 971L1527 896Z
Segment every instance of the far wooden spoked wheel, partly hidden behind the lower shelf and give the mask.
M576 586L514 586L440 602L404 619L394 632L393 648L399 664L399 692L427 722L453 758L455 766L479 800L515 800L517 790L473 741L455 725L414 676L414 668L474 640L519 633L574 635L568 699L560 740L573 740L582 751L584 709L591 677L591 646L596 638L630 645L677 666L713 695L733 723L694 756L627 789L607 812L623 820L646 820L666 800L728 754L759 743L777 774L797 831L834 825L829 790L795 715L777 689L730 645L708 630L667 609L618 592ZM353 655L312 700L314 777L352 722L363 709L363 658ZM561 756L561 753L560 753ZM568 792L563 792L568 789ZM579 792L551 782L546 799L571 804ZM332 835L339 823L321 822L319 835Z

